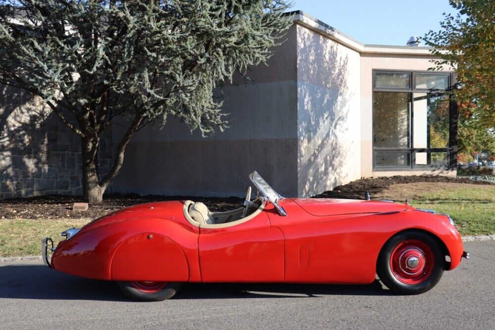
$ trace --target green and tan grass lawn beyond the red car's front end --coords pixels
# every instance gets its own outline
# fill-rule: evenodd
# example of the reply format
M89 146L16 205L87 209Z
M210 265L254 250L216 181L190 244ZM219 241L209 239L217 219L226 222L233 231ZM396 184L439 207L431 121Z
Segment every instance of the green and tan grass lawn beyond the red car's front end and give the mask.
M450 215L461 235L495 233L495 186L466 183L394 184L373 196Z

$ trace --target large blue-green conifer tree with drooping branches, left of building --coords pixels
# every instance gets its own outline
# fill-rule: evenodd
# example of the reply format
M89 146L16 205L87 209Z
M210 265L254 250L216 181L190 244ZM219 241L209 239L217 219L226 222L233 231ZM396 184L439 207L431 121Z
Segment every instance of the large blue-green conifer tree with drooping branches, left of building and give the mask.
M266 61L291 24L288 6L284 0L0 0L0 83L43 98L82 137L83 180L104 191L130 138L148 123L172 115L203 136L226 127L213 89ZM119 115L129 118L127 131L110 173L95 183L99 137Z

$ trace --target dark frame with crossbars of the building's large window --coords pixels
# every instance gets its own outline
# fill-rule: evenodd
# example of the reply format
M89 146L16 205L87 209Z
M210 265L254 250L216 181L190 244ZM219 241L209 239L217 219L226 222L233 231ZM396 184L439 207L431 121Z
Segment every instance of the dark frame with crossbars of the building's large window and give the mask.
M376 76L379 73L399 73L399 74L409 74L409 88L396 88L396 87L375 87L376 86ZM441 75L447 77L447 89L416 89L416 75L417 74L431 74L431 75ZM452 136L456 135L454 130L454 114L456 113L456 105L449 98L449 136L448 136L448 146L446 148L413 148L414 146L414 93L430 93L446 95L446 92L452 87L453 72L451 71L405 71L405 70L386 70L386 69L374 69L372 70L372 107L371 111L374 111L373 107L373 93L375 92L396 92L396 93L409 93L410 94L410 107L409 107L409 127L408 127L408 139L409 148L380 148L375 147L375 142L372 139L372 149L373 149L373 171L390 171L390 170L428 170L428 169L451 169L455 166L456 160L454 159L453 150L456 146L453 145ZM372 112L373 118L373 112ZM375 136L375 128L372 123L372 137ZM377 151L386 152L401 152L409 153L410 164L407 166L377 166L376 155ZM416 153L446 153L447 165L416 165Z

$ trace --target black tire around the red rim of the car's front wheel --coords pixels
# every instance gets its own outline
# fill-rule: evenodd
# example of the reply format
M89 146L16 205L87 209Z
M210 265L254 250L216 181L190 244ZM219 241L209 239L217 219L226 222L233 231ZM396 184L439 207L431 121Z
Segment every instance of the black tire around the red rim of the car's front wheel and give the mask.
M425 275L421 282L415 284L399 280L391 269L392 253L400 243L408 240L417 240L426 244L434 258L430 275ZM385 243L378 256L377 274L383 284L396 293L419 294L432 289L438 283L444 273L444 265L445 255L434 237L420 230L408 230L396 234Z

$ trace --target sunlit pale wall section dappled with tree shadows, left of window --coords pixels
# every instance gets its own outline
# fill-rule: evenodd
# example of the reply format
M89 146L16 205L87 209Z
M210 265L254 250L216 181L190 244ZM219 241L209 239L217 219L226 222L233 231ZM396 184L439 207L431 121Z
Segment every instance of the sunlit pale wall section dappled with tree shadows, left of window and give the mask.
M297 25L298 195L360 178L360 55Z

